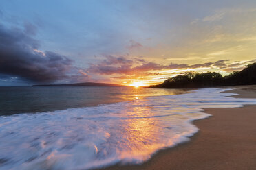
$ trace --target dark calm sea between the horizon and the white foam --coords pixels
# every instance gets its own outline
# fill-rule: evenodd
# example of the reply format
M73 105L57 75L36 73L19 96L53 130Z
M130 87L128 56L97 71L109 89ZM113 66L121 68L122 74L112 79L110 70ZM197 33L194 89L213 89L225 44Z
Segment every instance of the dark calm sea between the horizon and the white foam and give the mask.
M0 87L0 115L98 106L187 91L134 87Z

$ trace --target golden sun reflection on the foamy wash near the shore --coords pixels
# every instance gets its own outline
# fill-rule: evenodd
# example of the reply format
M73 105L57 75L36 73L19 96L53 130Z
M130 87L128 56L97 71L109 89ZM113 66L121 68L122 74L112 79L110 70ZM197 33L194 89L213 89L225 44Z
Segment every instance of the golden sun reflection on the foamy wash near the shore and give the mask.
M152 151L162 147L161 143L156 143L159 141L159 121L153 117L150 106L140 106L141 104L140 101L135 101L138 106L127 112L127 117L131 119L124 123L125 131L122 135L129 143L122 144L127 145L127 150L122 152L121 158L147 160Z

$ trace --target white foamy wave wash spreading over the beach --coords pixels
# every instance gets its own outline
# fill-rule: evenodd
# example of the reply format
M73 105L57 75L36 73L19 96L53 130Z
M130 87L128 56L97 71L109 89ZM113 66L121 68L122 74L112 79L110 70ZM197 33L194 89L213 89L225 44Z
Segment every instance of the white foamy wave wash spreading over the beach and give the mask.
M202 108L233 108L256 99L222 88L147 97L97 107L0 117L0 169L90 169L140 163L159 149L188 141Z

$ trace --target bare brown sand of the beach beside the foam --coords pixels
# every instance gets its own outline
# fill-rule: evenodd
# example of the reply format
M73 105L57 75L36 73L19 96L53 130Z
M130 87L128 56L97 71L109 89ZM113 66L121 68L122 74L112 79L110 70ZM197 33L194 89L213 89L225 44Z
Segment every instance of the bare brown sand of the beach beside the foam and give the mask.
M256 98L256 86L237 86L234 97ZM206 108L213 117L195 121L200 129L188 143L165 149L142 165L106 169L256 169L256 106Z

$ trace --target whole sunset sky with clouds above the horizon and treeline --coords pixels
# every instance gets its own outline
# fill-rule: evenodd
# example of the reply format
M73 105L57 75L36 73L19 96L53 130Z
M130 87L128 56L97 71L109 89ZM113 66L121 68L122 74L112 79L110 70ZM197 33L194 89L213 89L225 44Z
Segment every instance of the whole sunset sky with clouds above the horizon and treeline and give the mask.
M1 0L0 86L159 84L256 62L255 0Z

